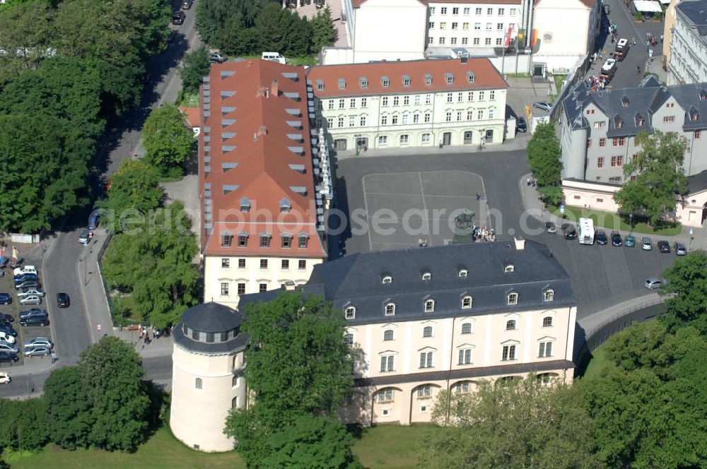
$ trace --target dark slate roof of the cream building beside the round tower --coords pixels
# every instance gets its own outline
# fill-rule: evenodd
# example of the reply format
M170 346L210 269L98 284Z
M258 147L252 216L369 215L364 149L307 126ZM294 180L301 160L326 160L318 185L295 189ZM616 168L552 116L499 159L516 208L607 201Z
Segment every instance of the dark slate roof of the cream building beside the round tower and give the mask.
M508 264L513 264L513 273L504 272ZM460 278L460 269L467 270L466 278ZM431 280L422 280L425 272L431 273ZM382 283L385 275L392 276L392 283ZM356 307L350 324L577 304L566 271L546 246L530 241L522 250L515 249L513 241L498 241L363 252L315 266L308 287L317 284L342 314L345 307ZM553 302L544 302L547 288L554 290ZM506 304L510 292L518 293L517 305ZM472 309L461 309L465 295L473 297ZM435 300L434 312L423 311L426 299ZM387 302L396 304L395 316L385 316Z

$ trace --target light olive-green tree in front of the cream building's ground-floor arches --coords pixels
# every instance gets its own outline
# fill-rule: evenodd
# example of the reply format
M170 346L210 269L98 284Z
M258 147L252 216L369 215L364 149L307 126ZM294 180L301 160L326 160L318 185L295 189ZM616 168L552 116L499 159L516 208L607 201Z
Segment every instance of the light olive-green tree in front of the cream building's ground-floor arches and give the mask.
M602 467L586 434L592 422L580 395L563 384L544 386L535 376L491 383L472 393L441 391L420 467ZM559 457L558 455L562 455Z

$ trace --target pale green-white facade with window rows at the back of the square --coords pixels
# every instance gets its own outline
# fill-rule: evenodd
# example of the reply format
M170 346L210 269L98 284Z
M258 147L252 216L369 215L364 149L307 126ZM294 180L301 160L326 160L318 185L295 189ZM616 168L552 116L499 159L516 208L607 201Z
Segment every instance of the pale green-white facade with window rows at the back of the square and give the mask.
M506 90L317 98L317 119L335 150L502 143Z

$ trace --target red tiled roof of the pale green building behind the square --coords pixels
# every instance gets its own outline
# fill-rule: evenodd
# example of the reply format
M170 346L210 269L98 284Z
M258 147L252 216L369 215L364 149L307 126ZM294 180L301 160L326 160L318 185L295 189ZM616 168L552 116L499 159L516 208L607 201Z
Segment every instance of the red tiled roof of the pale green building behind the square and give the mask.
M468 72L474 74L472 83L469 83ZM448 73L453 77L451 84L447 84ZM426 85L426 75L431 76L431 85ZM384 76L390 81L387 88L382 85ZM404 85L404 76L410 78L408 86ZM310 69L308 78L315 95L319 97L508 88L508 83L489 59L381 61L315 66ZM366 88L361 88L360 78L368 80ZM339 79L344 80L346 88L339 89ZM323 90L319 89L320 83L317 81L324 83Z

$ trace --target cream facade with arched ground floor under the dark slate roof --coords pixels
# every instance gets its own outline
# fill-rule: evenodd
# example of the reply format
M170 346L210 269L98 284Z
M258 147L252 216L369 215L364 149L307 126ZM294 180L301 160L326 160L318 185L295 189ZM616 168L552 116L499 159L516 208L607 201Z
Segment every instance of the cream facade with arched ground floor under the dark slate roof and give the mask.
M342 417L366 425L430 422L434 398L446 388L470 392L481 380L530 372L570 383L576 314L576 307L549 303L533 311L474 316L469 309L456 318L350 326L356 378L365 385ZM392 371L381 371L388 357Z

